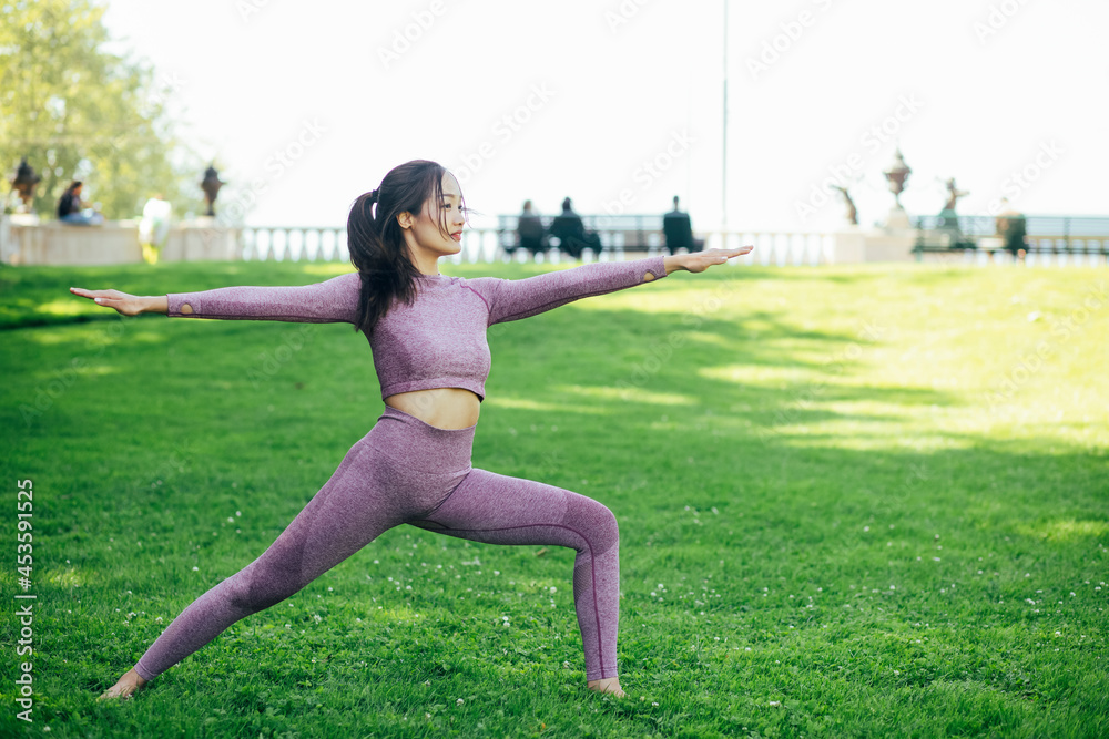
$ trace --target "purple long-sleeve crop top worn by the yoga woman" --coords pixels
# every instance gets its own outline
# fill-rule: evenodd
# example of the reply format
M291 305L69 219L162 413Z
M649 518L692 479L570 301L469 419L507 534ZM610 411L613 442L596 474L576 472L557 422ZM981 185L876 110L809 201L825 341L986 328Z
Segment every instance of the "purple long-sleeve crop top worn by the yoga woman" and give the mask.
M491 359L486 329L579 298L634 287L667 276L664 257L598 261L525 279L418 277L416 300L394 301L369 332L381 398L430 388L465 388L485 399ZM362 280L349 273L299 287L221 287L166 295L180 318L356 324ZM187 305L192 312L181 312Z

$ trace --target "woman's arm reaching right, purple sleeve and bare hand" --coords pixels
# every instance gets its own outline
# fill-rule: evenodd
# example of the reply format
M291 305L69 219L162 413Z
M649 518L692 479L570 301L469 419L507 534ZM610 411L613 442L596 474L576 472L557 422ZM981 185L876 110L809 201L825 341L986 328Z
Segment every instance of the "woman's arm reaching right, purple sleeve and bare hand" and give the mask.
M746 254L751 248L709 249L632 261L598 261L525 279L478 277L468 280L468 284L489 306L489 325L492 325L536 316L581 298L650 283L678 269L704 271L712 265Z

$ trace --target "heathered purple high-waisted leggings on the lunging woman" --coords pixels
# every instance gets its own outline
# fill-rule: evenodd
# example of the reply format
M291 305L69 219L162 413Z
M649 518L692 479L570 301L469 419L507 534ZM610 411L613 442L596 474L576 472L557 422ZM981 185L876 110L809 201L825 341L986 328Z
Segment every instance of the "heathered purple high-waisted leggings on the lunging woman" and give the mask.
M193 601L135 665L151 680L245 616L289 597L408 523L490 544L577 551L573 601L586 679L617 675L619 534L589 497L470 466L474 430L439 429L389 406L262 556Z

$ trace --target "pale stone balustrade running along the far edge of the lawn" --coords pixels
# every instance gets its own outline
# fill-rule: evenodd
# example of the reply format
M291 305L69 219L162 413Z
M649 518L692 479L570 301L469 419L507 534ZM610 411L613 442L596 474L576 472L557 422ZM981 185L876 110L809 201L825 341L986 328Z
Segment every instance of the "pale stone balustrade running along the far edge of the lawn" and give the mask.
M124 264L141 260L138 226L133 222L111 222L100 227L77 227L28 217L0 217L0 260L8 264L94 265ZM661 233L635 233L598 228L602 250L587 249L581 259L621 260L662 253ZM875 232L876 233L876 232ZM920 232L926 233L926 232ZM705 248L735 248L751 245L751 254L733 259L733 265L821 266L875 260L912 260L916 255L910 244L894 244L891 248L868 254L859 248L859 239L871 238L861 232L804 233L777 230L700 232ZM901 237L902 239L904 237ZM553 239L552 239L553 240ZM913 240L912 238L909 240ZM994 239L997 240L997 239ZM630 248L634 242L637 248ZM462 233L461 252L449 257L455 264L536 261L574 261L557 248L531 255L513 248L516 232L505 227L474 227ZM854 244L854 247L852 246ZM1013 264L1014 258L988 238L980 248L927 253L924 261L960 266ZM1093 266L1109 265L1109 237L1029 234L1028 266ZM625 248L629 247L629 248ZM645 247L645 249L644 249ZM338 226L218 226L211 223L177 224L170 232L162 258L172 260L244 259L250 261L337 261L348 263L346 228Z

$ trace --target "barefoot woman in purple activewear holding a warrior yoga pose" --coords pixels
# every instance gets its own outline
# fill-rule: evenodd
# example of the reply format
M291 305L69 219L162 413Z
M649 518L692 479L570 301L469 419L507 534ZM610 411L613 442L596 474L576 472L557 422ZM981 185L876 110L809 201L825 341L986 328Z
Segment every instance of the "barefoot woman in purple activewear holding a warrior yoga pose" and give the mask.
M470 465L489 374L486 329L579 298L704 271L751 247L596 263L520 280L439 274L466 224L458 182L417 160L355 201L358 271L302 287L227 287L140 297L70 288L124 316L349 322L366 333L385 410L326 484L257 560L190 604L102 698L128 698L241 618L289 597L403 523L495 544L577 551L573 599L587 686L622 697L617 676L617 523L603 505Z

